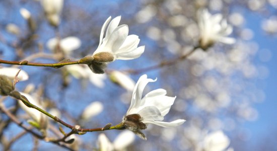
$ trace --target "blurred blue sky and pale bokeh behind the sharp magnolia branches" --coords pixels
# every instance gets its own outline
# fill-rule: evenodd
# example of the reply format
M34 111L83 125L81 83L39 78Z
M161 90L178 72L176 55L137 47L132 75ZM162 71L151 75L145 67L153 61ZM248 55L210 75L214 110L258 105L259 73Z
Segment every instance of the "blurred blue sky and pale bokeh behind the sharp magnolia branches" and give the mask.
M30 12L33 23L20 13L22 8ZM198 44L197 12L203 8L211 14L222 14L233 27L229 37L236 42L217 42L205 51L199 48L188 58L174 61L173 65L147 68L174 60ZM32 56L31 61L43 63L80 59L97 48L105 20L121 16L120 25L127 24L129 34L140 37L139 46L146 46L141 57L116 60L108 65L104 75L90 78L74 76L70 66L16 66L29 75L29 80L17 84L17 90L26 92L30 88L27 92L41 100L48 112L72 125L97 128L120 123L130 104L131 89L123 87L112 73L121 71L133 83L147 74L158 79L148 85L145 94L163 88L168 96L177 96L165 121L181 118L186 122L173 128L149 125L143 131L148 140L135 137L125 150L217 150L207 142L220 138L225 140L226 147L218 150L277 150L276 9L276 0L66 0L60 23L54 27L47 21L39 1L0 1L0 57L23 60ZM51 38L57 37L61 43L69 36L80 39L80 46L70 53L61 48L53 50L49 44ZM38 53L41 55L34 56ZM97 105L90 110L96 112L85 118L85 108L95 102ZM3 103L7 108L17 106L11 97L4 98ZM28 125L28 116L21 108L14 114ZM9 118L1 112L0 120ZM58 128L54 121L49 119L49 123ZM3 140L9 142L24 131L13 122L0 130L2 149ZM103 133L112 142L120 132ZM220 132L221 137L213 135L215 132ZM78 135L79 150L99 149L100 133ZM29 133L10 146L11 150L52 148L66 150Z

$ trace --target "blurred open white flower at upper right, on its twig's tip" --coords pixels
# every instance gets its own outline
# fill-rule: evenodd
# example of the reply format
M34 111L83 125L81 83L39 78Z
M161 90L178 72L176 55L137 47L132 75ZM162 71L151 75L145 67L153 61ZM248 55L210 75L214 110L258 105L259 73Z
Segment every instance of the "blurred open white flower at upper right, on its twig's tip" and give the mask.
M226 44L235 43L235 39L227 37L233 31L232 26L227 24L222 14L211 15L206 9L200 10L198 16L199 45L202 49L207 49L216 42Z

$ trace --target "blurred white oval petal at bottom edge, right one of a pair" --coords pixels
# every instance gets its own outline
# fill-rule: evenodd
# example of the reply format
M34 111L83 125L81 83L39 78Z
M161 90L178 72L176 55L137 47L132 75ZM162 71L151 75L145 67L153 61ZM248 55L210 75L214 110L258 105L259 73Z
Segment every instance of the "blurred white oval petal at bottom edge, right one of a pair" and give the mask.
M135 139L135 134L129 130L121 132L114 140L113 146L115 150L123 150L130 145Z

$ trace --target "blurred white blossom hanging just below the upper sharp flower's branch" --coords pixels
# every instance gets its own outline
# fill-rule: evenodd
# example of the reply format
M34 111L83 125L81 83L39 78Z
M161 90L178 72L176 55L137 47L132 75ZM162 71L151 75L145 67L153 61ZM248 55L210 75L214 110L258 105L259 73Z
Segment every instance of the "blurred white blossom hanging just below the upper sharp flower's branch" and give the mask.
M88 79L98 88L103 88L105 86L104 80L107 78L106 74L91 73L88 66L82 66L81 64L66 65L65 68L76 79Z

